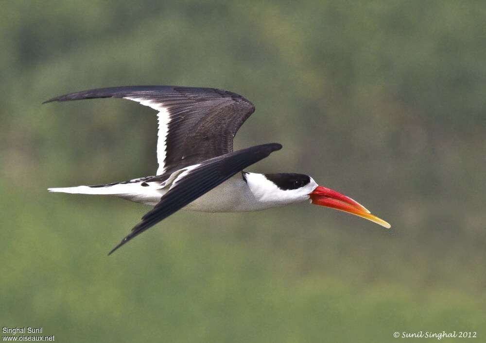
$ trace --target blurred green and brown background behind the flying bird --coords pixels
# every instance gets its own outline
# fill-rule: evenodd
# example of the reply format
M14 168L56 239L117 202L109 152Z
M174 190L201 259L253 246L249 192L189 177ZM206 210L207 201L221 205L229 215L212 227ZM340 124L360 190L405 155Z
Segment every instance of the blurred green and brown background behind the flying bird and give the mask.
M42 326L58 342L419 330L486 342L485 2L1 6L2 327ZM155 112L41 102L137 84L244 95L257 110L236 148L284 146L249 171L309 174L392 229L305 203L177 212L107 257L149 208L47 188L153 175Z

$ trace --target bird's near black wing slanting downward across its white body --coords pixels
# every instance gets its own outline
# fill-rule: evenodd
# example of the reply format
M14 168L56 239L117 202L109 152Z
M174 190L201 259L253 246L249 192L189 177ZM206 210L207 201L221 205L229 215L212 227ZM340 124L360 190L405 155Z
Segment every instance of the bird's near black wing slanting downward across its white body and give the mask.
M175 185L162 196L162 199L152 211L146 213L142 217L142 221L109 254L247 166L264 159L273 151L281 148L282 146L277 143L249 147L212 158L195 166L181 179L175 181Z

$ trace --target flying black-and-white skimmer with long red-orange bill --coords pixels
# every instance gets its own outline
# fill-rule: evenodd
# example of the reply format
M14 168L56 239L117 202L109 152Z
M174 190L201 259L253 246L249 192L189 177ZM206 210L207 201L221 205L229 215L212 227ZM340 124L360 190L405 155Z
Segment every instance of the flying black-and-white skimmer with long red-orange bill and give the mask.
M119 86L69 93L43 103L93 98L123 98L158 111L156 175L48 189L117 196L153 206L108 255L180 209L249 212L309 201L391 227L357 201L319 186L308 175L244 171L282 146L270 143L233 151L236 132L255 111L239 94L217 88Z

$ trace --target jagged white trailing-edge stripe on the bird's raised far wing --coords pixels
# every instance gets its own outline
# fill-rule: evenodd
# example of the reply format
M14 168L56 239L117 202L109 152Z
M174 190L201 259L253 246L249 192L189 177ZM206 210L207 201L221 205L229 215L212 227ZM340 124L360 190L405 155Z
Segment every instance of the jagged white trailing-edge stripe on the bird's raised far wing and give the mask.
M167 144L166 144L167 134L169 133L169 123L171 122L171 115L167 107L163 106L163 104L160 102L153 101L153 100L146 100L143 98L125 97L124 99L139 102L143 106L148 106L150 108L153 108L154 110L159 111L159 113L157 114L157 120L158 120L157 175L163 174L165 172L164 161L167 156Z

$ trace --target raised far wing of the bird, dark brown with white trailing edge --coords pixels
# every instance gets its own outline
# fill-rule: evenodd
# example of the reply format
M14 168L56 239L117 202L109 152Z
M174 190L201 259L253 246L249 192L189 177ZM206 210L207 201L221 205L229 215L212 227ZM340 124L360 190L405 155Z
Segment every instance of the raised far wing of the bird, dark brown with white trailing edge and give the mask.
M51 101L125 98L159 113L157 175L233 151L233 137L255 106L242 96L216 88L123 86L62 95Z

